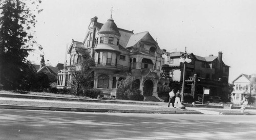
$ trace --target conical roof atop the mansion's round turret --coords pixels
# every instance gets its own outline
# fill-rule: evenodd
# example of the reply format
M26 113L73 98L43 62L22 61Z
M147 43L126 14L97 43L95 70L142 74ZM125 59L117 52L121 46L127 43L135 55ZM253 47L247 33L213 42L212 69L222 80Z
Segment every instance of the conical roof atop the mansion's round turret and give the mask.
M119 33L118 28L117 28L112 16L101 27L98 34L115 34L115 35L121 36L121 34Z

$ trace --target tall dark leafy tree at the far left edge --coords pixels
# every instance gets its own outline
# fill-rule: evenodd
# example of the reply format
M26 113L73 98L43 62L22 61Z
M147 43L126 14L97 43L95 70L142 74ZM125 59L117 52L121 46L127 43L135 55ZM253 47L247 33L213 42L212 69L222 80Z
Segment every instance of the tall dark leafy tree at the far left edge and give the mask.
M26 59L34 40L31 28L35 27L36 19L30 7L38 9L41 1L0 0L0 84L5 89L20 89L26 84L28 74L33 73ZM29 5L29 6L28 6ZM42 50L40 45L37 45Z

